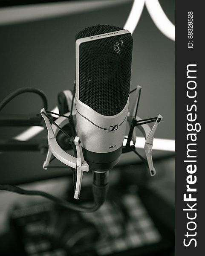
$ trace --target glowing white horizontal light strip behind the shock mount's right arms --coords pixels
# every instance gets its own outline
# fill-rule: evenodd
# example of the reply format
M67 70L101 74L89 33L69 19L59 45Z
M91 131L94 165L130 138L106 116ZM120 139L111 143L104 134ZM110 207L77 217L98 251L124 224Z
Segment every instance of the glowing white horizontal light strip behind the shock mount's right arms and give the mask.
M145 138L136 137L136 148L144 148ZM175 152L175 140L154 138L153 149Z

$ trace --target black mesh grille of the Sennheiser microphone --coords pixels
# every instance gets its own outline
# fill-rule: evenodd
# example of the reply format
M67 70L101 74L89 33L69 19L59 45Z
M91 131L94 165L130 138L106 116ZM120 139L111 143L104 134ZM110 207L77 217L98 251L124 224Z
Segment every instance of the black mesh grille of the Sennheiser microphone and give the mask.
M99 25L82 30L76 40L122 30ZM116 35L80 44L79 99L104 116L120 113L130 93L133 38Z

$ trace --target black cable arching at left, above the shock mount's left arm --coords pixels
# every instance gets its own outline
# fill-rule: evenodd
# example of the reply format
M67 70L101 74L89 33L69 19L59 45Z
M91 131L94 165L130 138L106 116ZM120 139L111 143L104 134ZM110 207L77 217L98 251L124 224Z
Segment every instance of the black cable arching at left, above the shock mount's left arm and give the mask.
M46 97L46 94L37 88L32 88L32 87L25 87L25 88L20 88L15 90L14 92L10 93L8 96L6 96L6 98L4 98L1 102L0 102L0 111L12 100L14 99L16 96L22 94L22 93L36 93L40 96L40 98L43 101L43 108L47 109L48 108L48 100Z

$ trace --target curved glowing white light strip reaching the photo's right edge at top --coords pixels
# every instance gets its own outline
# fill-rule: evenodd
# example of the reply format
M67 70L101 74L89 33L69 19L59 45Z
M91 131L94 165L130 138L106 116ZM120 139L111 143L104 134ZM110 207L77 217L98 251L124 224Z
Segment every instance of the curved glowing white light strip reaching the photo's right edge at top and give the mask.
M171 40L175 41L175 26L165 15L158 0L145 0L147 11L149 12L156 27Z

